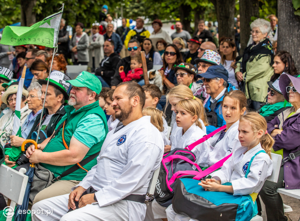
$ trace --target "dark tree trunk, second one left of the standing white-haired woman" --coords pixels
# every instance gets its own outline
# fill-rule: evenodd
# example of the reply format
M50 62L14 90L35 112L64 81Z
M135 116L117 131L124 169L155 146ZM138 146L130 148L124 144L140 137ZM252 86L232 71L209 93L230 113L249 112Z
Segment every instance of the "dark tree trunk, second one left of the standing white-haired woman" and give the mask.
M211 0L211 2L217 14L219 38L225 36L234 39L235 0Z

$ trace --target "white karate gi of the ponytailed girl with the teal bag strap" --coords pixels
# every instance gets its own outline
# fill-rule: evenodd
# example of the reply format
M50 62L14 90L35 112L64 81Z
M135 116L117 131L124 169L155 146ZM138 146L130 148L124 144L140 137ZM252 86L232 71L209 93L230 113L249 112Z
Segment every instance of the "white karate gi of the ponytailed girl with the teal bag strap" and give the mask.
M223 164L223 167L216 171L212 178L220 180L221 184L232 183L233 195L247 195L259 193L262 185L273 171L273 162L266 153L256 155L250 165L250 173L247 178L245 174L247 167L245 164L259 151L262 150L260 144L247 151L247 147L240 147L233 151L232 156ZM244 153L246 152L246 153ZM170 205L166 209L169 221L192 221L184 215L176 214Z

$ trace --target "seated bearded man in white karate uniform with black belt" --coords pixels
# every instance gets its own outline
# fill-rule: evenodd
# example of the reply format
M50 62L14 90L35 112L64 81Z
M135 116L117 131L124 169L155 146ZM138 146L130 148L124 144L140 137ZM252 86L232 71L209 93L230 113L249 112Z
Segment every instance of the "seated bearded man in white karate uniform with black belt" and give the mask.
M142 115L145 93L141 86L123 82L113 99L120 123L107 134L97 165L70 194L36 203L32 210L44 209L45 213L53 208L53 214L35 214L33 221L144 220L145 194L153 172L160 167L164 142L150 116Z

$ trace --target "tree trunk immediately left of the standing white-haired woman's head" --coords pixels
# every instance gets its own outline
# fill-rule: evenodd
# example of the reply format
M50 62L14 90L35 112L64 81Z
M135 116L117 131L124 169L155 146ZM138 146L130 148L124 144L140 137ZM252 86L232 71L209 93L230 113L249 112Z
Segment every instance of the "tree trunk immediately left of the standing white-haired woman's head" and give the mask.
M251 17L259 17L258 0L240 0L240 37L241 37L241 50L243 54L244 49L247 47L250 36L250 22Z

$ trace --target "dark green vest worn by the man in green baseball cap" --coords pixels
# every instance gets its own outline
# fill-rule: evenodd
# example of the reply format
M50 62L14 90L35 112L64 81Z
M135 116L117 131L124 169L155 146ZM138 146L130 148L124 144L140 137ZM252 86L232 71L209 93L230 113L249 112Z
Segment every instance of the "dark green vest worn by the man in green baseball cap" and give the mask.
M75 132L75 129L77 127L78 122L90 115L90 114L97 114L100 116L100 118L102 119L102 121L104 122L104 126L105 126L105 137L107 135L108 132L108 128L107 128L107 121L106 121L106 117L104 114L104 111L101 109L101 107L99 106L99 102L98 100L95 101L94 103L91 103L89 105L83 106L82 108L80 108L79 110L77 110L76 112L73 112L71 114L71 112L74 110L73 106L65 106L64 109L66 110L66 115L67 115L67 119L66 119L66 123L64 125L64 140L66 141L67 145L70 145L70 140L73 136L73 133ZM63 117L63 119L65 119L65 117ZM59 125L57 125L59 126ZM87 128L88 130L88 128ZM105 140L105 137L103 138L103 140L95 145L93 145L90 150L88 150L88 153L85 155L85 158L87 158L88 156L93 155L94 153L97 153L101 150L103 141ZM66 148L64 147L64 144L62 142L62 128L55 134L54 138L52 138L49 143L46 145L46 147L44 148L43 152L48 152L48 153L52 153L52 152L56 152L56 151L60 151L60 150L65 150ZM54 159L55 160L55 159ZM95 166L97 164L97 157L95 159L93 159L92 161L90 161L89 163L85 164L85 166L83 166L86 170L90 170L93 166ZM68 165L68 166L54 166L51 164L44 164L41 163L41 166L45 167L46 169L50 170L52 173L54 173L55 177L61 175L61 173L63 173L64 171L66 171L67 169L69 169L70 167L72 167L73 165ZM82 180L86 175L85 170L82 169L78 169L75 172L65 176L62 178L62 180Z

